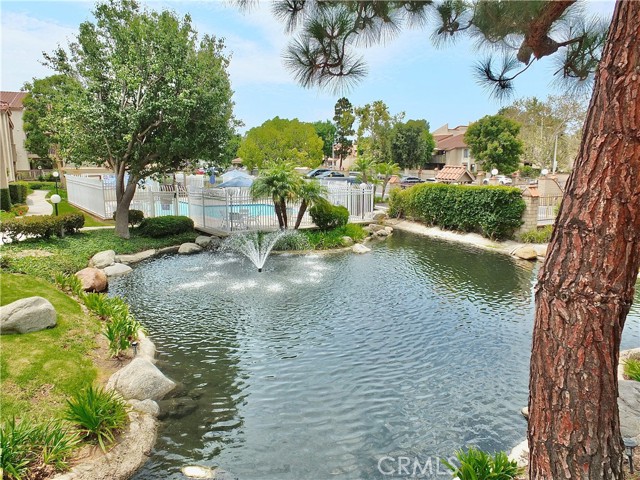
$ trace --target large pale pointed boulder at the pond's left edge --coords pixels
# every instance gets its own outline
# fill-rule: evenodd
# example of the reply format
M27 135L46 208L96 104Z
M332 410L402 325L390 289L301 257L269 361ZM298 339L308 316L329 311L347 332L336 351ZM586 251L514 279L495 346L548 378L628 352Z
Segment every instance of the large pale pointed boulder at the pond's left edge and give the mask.
M116 390L125 400L160 400L175 386L153 363L141 357L134 358L107 382L107 389Z

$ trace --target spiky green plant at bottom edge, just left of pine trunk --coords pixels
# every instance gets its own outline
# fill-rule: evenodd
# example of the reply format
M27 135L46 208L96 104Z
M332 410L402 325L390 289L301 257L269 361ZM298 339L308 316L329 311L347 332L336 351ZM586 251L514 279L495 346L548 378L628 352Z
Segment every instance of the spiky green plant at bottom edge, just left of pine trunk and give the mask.
M457 451L456 458L460 462L459 467L446 460L442 463L451 470L451 475L460 480L511 480L523 473L523 469L515 461L510 461L504 452L497 452L492 457L471 447L466 452Z

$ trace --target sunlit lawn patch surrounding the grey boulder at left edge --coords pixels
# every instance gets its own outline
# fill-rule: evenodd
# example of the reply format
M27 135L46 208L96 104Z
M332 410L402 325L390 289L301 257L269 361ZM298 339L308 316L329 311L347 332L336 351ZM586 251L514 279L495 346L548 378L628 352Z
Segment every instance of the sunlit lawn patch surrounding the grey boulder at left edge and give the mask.
M50 330L0 336L0 418L61 418L66 399L97 378L91 353L100 322L43 279L0 273L0 283L0 304L38 295L58 313Z

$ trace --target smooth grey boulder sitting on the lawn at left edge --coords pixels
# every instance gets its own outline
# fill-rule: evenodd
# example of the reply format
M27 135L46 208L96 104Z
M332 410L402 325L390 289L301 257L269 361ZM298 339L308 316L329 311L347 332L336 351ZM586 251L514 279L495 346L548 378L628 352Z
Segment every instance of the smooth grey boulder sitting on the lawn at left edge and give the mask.
M56 326L56 309L42 297L28 297L0 307L0 334L30 333Z

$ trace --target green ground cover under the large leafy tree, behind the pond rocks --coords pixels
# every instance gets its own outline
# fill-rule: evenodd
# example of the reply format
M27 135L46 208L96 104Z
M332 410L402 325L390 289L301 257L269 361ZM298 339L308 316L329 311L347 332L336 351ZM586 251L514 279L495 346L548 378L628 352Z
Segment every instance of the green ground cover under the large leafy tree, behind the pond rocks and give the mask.
M195 232L163 238L140 236L135 229L128 240L116 236L113 230L90 230L64 238L29 239L3 245L0 267L8 272L26 273L53 281L56 274L72 274L87 266L89 259L97 252L115 250L119 254L137 253L143 250L193 242ZM32 252L25 256L25 250ZM33 251L37 252L33 252ZM51 256L36 254L51 253Z

